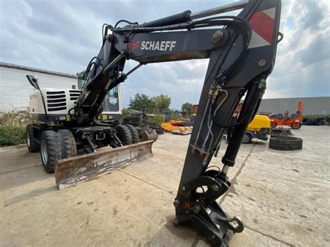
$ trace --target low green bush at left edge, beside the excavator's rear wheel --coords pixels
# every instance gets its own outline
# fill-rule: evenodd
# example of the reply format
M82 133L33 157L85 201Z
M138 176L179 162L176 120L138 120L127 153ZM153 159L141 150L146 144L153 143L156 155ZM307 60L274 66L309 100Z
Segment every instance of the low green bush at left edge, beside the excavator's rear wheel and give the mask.
M0 125L0 147L22 144L25 140L25 125Z

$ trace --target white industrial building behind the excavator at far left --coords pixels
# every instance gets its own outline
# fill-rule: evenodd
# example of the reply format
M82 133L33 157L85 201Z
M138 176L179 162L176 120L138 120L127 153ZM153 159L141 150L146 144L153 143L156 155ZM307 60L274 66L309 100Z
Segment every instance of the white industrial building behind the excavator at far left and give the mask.
M72 88L77 86L77 76L34 67L0 62L0 112L20 106L29 106L29 95L35 90L26 74L38 78L40 88Z

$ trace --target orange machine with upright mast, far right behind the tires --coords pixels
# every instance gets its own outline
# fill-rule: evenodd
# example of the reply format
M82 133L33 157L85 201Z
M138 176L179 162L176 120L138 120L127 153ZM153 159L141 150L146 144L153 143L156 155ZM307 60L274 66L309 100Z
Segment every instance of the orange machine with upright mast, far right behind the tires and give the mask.
M296 113L289 114L289 111L284 111L283 113L274 113L268 115L271 120L272 128L278 125L287 125L292 127L292 129L299 129L302 122L302 102L298 101L298 111Z

